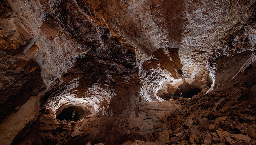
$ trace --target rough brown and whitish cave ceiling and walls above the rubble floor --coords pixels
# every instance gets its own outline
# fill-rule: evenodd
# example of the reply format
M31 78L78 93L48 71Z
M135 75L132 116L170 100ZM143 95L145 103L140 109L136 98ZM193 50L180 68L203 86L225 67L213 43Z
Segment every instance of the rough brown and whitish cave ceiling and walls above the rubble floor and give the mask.
M63 110L116 126L119 118L123 132L120 124L136 121L122 113L139 119L141 108L170 106L178 88L186 98L255 92L255 8L255 0L2 0L0 123L32 102L10 142L41 114Z

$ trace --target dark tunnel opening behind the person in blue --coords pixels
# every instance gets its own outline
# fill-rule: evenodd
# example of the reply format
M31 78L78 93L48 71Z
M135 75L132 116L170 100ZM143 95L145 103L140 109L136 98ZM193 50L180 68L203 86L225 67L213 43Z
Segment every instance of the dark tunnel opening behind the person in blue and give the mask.
M74 121L83 119L84 117L91 114L88 109L84 109L84 107L82 106L69 106L67 108L64 108L60 114L56 114L56 119L59 119L60 121L71 120L73 111L75 111L76 113Z

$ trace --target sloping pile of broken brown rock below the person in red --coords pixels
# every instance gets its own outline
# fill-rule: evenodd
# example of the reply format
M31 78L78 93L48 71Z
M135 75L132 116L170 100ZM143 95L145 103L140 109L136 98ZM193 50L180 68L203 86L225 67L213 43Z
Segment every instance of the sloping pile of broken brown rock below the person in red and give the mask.
M256 98L248 88L179 98L181 107L162 118L142 141L122 145L249 145L256 140Z

